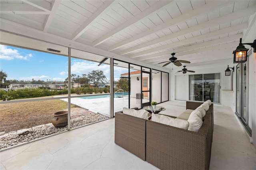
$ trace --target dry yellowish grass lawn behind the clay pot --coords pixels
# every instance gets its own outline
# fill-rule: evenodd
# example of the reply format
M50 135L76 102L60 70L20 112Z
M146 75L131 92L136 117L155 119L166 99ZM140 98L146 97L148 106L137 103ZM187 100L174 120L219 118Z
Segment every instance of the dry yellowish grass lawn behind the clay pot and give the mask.
M76 107L71 105L71 108ZM0 132L51 123L52 114L68 108L61 100L32 101L0 105Z

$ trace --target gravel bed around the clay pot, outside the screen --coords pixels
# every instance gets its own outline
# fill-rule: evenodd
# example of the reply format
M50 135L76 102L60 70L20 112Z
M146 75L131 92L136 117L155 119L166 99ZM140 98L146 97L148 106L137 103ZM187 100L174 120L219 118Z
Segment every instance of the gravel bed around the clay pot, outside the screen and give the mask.
M80 127L89 123L107 119L107 116L100 114L90 114L85 117L78 117L70 120L70 128ZM50 134L67 130L68 127L56 128L52 123L39 125L32 128L22 129L15 132L8 132L0 136L0 149L14 146L16 144L28 142L36 138L41 138Z

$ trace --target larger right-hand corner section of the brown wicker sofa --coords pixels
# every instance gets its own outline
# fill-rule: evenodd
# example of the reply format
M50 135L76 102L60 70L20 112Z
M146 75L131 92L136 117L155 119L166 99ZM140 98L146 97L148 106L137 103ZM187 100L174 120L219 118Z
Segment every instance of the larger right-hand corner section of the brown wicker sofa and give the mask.
M187 101L186 109L194 110L201 104ZM213 124L213 104L198 132L146 121L146 161L161 170L208 170Z

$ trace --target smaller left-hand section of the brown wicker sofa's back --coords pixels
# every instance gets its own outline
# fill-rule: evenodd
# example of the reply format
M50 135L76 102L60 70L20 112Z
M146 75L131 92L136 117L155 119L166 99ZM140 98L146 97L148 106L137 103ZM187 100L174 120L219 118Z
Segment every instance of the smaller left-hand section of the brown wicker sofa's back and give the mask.
M115 143L142 160L146 160L146 121L122 111L115 113Z

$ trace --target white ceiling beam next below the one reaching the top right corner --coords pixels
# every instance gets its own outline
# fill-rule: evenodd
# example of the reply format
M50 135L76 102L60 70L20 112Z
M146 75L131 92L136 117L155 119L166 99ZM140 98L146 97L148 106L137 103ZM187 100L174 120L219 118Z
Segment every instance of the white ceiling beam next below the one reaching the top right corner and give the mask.
M229 32L243 30L243 29L246 29L247 27L248 27L247 22L243 23L243 24L239 24L239 25L234 25L234 26L224 28L224 29L221 29L221 30L217 30L217 31L214 31L214 32L210 32L210 33L207 33L207 34L202 34L200 36L188 38L186 40L182 40L182 41L179 41L179 42L174 42L174 43L170 43L170 44L163 45L163 46L160 46L160 47L156 47L156 48L153 48L153 49L149 49L149 50L146 50L146 51L142 51L140 53L130 55L129 57L130 58L139 57L141 55L145 55L145 54L152 53L152 52L155 52L155 51L161 51L161 50L164 50L164 49L170 49L170 48L173 48L173 47L178 47L180 45L185 45L185 44L189 44L189 43L193 43L193 42L197 42L197 41L202 41L204 39L211 38L211 37L214 37L214 36L220 36L222 34L228 34Z

